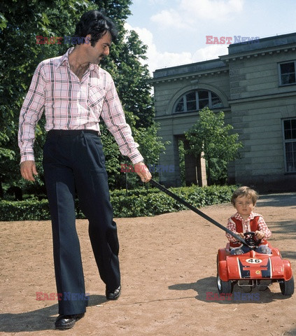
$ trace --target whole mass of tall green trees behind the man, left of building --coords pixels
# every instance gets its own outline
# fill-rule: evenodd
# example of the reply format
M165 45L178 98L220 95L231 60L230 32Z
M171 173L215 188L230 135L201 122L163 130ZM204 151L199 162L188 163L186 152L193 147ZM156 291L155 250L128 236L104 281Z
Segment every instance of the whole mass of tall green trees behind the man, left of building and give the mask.
M0 4L0 197L2 186L23 188L29 186L19 173L20 155L17 146L18 118L22 102L31 83L36 66L43 59L66 52L69 45L36 44L36 36L71 36L82 13L86 10L104 10L118 26L118 41L113 43L111 54L101 66L111 72L125 111L136 119L136 127L146 130L152 138L153 99L150 94L148 67L141 64L145 59L146 46L134 31L127 32L125 20L131 14L131 0L2 0ZM41 173L42 146L45 139L44 120L39 122L34 146L36 164ZM112 139L104 131L108 153L116 153ZM147 138L147 139L148 139ZM108 148L111 146L111 148ZM158 141L156 152L162 148ZM109 151L110 149L110 151ZM117 151L119 155L119 151ZM112 164L114 164L112 166ZM118 171L115 160L110 161L109 176ZM116 174L111 177L114 181ZM38 184L38 183L37 183ZM114 185L115 186L115 185ZM37 188L37 185L36 185ZM3 190L2 190L3 195Z

